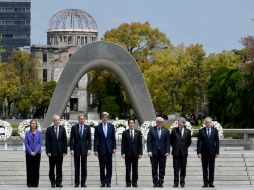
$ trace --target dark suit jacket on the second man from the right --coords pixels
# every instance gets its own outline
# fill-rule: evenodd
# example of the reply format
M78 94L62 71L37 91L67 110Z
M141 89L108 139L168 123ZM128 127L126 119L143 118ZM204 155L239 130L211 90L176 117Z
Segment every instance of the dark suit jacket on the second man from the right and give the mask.
M191 145L191 131L184 128L183 138L179 127L172 129L170 134L170 145L173 156L188 156L188 148Z

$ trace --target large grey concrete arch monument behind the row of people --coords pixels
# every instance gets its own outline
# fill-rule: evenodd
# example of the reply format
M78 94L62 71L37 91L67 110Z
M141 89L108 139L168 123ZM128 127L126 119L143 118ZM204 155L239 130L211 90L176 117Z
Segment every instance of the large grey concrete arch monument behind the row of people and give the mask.
M149 91L134 58L117 44L99 41L83 46L71 56L57 83L43 127L50 125L54 114L63 114L80 78L89 70L97 68L116 75L140 123L155 120Z

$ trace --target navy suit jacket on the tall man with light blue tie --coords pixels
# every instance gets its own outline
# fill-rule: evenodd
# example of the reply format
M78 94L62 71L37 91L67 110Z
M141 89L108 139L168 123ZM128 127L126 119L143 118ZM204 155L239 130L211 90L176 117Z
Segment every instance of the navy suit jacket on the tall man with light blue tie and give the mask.
M95 128L94 152L98 154L112 154L113 149L116 149L115 127L111 123L107 123L107 126L107 138L104 135L102 123Z

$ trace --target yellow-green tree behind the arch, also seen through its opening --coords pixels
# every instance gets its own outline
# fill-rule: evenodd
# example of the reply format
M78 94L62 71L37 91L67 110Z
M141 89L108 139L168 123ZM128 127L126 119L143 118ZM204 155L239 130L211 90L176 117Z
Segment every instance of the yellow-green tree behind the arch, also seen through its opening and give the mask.
M121 24L117 28L107 31L103 40L118 43L126 48L134 56L142 71L150 66L149 63L152 62L155 51L171 46L166 35L157 28L151 28L149 23ZM88 91L95 95L97 100L95 104L98 105L99 112L105 109L105 104L108 105L105 100L114 100L119 107L112 106L112 110L117 111L114 112L116 116L129 113L131 106L126 93L113 74L99 70L90 72L89 75L91 81ZM91 105L91 107L94 106ZM113 113L111 109L108 111Z

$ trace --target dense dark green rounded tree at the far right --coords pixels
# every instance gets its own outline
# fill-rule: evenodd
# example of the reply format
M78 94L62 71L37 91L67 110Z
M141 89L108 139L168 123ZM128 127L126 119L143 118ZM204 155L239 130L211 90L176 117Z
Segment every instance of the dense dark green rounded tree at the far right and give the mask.
M244 103L246 94L243 82L245 80L242 69L221 67L209 82L210 113L226 127L244 127L241 124L246 120L243 112L249 107Z

